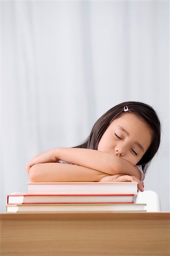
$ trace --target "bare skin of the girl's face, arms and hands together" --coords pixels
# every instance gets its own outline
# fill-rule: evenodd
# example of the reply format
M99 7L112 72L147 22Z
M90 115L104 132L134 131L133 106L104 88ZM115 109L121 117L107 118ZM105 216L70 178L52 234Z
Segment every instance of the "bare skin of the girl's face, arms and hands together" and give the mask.
M143 191L136 163L152 141L147 123L132 113L114 119L103 134L98 150L55 148L35 156L26 170L31 182L136 181ZM65 160L72 164L57 163Z

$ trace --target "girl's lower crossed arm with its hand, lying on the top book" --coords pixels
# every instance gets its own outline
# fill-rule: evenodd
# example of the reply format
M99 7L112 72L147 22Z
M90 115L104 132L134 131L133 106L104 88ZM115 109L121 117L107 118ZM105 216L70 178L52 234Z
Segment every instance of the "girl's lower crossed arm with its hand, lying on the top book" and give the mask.
M28 172L31 182L138 182L138 188L143 191L143 183L135 176L130 175L106 175L103 172L92 170L82 166L60 163L35 164Z

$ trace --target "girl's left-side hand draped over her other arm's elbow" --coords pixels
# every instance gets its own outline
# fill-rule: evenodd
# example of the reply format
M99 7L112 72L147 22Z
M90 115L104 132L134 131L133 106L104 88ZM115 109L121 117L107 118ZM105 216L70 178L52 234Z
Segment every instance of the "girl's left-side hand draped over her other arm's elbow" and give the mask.
M55 155L56 150L49 150L40 155L36 155L26 166L27 172L30 171L30 168L34 166L34 164L39 163L56 163L58 162L58 158Z

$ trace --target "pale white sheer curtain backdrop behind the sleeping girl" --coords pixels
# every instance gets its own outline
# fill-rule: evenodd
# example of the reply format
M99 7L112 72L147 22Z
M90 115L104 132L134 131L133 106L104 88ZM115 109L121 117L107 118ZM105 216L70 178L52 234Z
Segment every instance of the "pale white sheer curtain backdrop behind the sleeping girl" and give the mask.
M1 1L0 22L0 212L33 156L80 144L123 101L160 117L144 188L169 211L169 1Z

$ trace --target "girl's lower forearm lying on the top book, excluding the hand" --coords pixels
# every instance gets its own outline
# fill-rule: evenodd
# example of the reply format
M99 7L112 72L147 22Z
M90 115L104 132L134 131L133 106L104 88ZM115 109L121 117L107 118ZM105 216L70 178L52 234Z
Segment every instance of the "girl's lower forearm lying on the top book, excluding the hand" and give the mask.
M86 167L61 163L35 164L28 175L31 182L99 181L106 176L103 172Z

